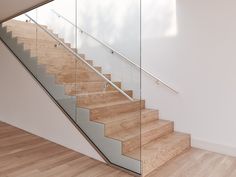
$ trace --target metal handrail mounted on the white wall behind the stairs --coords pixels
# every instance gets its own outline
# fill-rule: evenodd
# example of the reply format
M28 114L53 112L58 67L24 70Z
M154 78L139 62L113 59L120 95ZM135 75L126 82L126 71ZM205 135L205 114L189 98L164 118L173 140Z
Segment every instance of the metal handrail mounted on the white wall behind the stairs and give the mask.
M154 76L152 73L150 73L149 71L145 70L144 68L140 67L139 65L137 65L136 63L134 63L133 61L131 61L128 57L126 57L125 55L123 55L122 53L118 52L117 50L113 49L111 46L107 45L106 43L104 43L103 41L95 38L93 35L91 35L90 33L86 32L85 30L83 30L81 27L76 26L75 24L73 24L70 20L68 20L67 18L63 17L61 14L59 14L58 12L56 12L55 10L51 9L51 11L53 13L55 13L59 18L63 18L65 21L67 21L68 23L70 23L71 25L73 25L74 27L76 27L77 29L80 30L81 33L86 34L87 36L89 36L90 38L94 39L95 41L97 41L98 43L100 43L101 45L105 46L106 48L110 49L112 54L116 53L117 55L119 55L121 58L125 59L127 62L129 62L130 64L134 65L135 67L137 67L138 69L141 69L144 73L146 73L147 75L149 75L151 78L153 78L157 84L161 83L164 86L166 86L168 89L172 90L173 92L175 92L176 94L178 94L179 92L177 90L175 90L174 88L172 88L171 86L169 86L166 82L164 82L163 80L157 78L156 76Z

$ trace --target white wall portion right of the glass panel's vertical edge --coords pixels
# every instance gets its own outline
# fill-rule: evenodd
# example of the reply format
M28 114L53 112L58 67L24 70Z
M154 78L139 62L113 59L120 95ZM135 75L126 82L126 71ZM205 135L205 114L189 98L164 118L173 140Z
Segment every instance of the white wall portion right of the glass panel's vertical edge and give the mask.
M180 93L144 79L143 97L194 146L236 155L236 2L161 1L143 8L143 66Z

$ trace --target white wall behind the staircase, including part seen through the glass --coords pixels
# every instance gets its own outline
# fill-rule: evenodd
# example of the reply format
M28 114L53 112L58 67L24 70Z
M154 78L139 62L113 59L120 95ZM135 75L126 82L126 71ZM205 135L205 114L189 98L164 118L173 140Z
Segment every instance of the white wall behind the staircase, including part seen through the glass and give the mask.
M78 24L139 63L139 1L124 2L78 0ZM231 155L236 155L235 6L233 0L142 1L142 66L180 92L143 75L147 107L175 121L177 131L191 133L194 146ZM91 59L138 85L138 73L132 76L133 69L98 55L101 49L84 40L93 49L84 49Z

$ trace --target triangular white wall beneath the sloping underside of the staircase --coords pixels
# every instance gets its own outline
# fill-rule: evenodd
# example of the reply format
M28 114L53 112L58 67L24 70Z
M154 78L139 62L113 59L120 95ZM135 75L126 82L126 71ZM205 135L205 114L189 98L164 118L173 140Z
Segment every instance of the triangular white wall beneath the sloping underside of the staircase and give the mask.
M0 121L103 161L0 42Z

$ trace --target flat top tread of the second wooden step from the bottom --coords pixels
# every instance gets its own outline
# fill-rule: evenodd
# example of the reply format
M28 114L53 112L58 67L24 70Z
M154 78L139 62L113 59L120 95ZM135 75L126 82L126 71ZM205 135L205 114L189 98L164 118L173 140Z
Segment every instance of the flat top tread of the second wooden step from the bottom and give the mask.
M146 123L146 124L140 124L140 126L134 127L132 129L124 130L122 132L117 132L115 134L110 135L109 137L112 137L117 140L126 141L129 139L132 139L134 137L140 137L140 135L143 135L144 133L148 131L152 131L153 129L160 129L163 126L166 126L170 124L171 121L167 120L154 120L152 122Z

